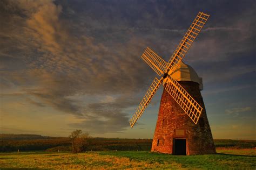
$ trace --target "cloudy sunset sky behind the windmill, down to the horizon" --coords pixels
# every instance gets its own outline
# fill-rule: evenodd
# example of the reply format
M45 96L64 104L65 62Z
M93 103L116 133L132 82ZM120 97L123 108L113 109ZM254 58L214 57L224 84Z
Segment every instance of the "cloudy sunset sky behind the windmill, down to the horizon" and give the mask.
M256 139L256 1L0 1L0 133L153 138L163 87L129 119L199 11L184 62L203 77L213 138Z

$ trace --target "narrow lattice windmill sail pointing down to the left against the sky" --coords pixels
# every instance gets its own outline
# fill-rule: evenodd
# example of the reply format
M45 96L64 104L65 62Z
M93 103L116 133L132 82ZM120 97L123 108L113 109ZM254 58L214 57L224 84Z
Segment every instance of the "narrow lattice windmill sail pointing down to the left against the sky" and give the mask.
M130 120L131 128L136 123L136 121L140 118L140 116L142 116L147 105L149 105L152 97L154 96L154 94L156 94L156 91L159 88L161 82L162 82L162 79L159 80L157 79L157 77L154 78L154 81L152 82L149 90L147 90L147 93L143 97L142 102L140 102L139 107L137 108L136 112L133 114Z

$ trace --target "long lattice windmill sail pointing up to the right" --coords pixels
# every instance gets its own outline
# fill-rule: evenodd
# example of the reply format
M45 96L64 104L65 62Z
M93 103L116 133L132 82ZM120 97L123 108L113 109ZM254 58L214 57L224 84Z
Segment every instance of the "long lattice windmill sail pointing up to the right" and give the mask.
M166 72L169 72L170 70L171 72L174 72L174 70L176 70L177 66L179 65L179 62L184 58L188 49L191 47L197 35L205 25L208 17L210 17L210 15L207 15L206 13L198 13L196 19L194 19L190 28L187 30L185 36L183 37L183 39L181 39L178 47L172 54L168 62L168 67L166 67Z

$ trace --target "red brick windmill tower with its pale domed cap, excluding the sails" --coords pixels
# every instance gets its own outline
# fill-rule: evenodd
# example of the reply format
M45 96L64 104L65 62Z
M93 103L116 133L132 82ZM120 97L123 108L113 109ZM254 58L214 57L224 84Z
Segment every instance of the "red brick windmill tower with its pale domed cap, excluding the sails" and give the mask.
M216 153L200 93L203 90L201 78L183 62L172 77L201 105L203 111L198 123L194 124L164 89L151 151L178 155Z

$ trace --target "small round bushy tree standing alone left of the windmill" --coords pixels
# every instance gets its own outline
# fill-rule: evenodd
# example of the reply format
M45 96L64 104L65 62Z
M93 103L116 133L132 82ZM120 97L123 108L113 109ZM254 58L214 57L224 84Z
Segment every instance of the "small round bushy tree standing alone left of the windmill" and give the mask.
M89 144L89 138L91 136L89 133L83 133L82 130L75 130L71 132L69 138L72 143L72 152L78 153L86 150L87 145Z

